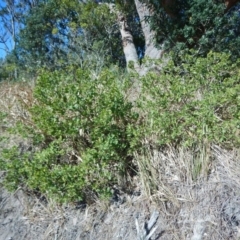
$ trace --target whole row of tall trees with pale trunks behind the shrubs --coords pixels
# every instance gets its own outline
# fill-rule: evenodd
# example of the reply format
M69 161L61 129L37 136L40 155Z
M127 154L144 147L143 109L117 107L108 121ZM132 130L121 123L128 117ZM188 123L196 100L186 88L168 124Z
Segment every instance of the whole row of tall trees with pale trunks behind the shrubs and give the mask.
M2 42L12 38L7 57L21 69L84 64L122 68L134 61L179 55L195 49L238 58L239 3L222 0L38 0L5 1ZM11 8L10 8L11 7ZM13 9L12 11L10 11ZM5 20L4 20L5 19ZM11 22L11 21L8 21ZM9 24L9 23L8 23ZM17 27L18 26L18 27ZM17 28L17 30L16 30ZM163 54L164 53L164 54ZM94 60L95 59L95 60Z

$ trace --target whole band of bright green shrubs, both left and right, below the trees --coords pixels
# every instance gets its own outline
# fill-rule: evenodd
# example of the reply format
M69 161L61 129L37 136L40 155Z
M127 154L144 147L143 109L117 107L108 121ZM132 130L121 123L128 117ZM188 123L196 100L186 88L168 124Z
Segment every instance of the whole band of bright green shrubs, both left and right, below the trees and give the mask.
M225 53L195 56L183 56L180 66L169 60L161 73L139 78L134 108L124 97L128 77L120 79L118 71L43 71L28 106L30 120L18 125L34 151L4 150L6 185L76 201L108 194L132 171L133 156L144 154L146 142L157 148L239 146L239 62Z

